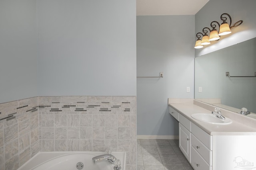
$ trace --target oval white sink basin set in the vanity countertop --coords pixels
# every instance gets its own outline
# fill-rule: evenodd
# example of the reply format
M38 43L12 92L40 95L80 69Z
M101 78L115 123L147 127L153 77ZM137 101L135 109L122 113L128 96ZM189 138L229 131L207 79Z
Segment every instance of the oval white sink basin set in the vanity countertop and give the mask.
M193 117L196 120L199 121L203 121L206 123L212 123L212 124L229 124L232 123L232 120L228 119L226 117L225 120L222 120L218 117L216 117L216 115L213 114L209 114L209 113L194 113L191 115L191 117Z

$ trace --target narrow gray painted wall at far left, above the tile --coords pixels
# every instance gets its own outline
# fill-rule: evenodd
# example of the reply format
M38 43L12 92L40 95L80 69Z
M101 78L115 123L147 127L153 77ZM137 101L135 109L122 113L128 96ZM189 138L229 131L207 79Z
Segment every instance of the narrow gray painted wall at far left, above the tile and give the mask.
M0 82L0 103L37 96L35 0L0 0Z

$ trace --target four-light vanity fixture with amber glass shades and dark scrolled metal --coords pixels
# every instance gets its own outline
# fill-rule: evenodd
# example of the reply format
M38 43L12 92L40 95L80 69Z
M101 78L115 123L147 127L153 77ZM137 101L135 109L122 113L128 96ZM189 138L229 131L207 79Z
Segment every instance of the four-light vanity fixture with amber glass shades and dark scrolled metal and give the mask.
M228 25L228 23L226 22L226 20L228 19L227 17L225 16L228 16L228 18L230 19L230 24ZM203 33L201 33L203 35L202 37L202 41L200 39L201 35L199 35L199 33L196 34L196 37L198 38L196 40L196 45L195 45L195 49L200 49L202 47L204 47L203 45L209 45L210 44L210 41L219 41L220 39L220 36L221 35L227 35L227 34L230 34L231 33L231 29L234 28L234 27L237 27L239 25L241 25L243 23L242 20L240 21L237 21L236 23L234 23L234 25L231 26L231 23L232 23L232 19L231 19L231 16L227 13L224 13L220 16L220 19L223 21L221 24L218 23L217 21L212 21L211 22L211 27L212 27L212 30L210 30L210 28L208 27L204 27L203 29ZM218 24L219 26L219 31L217 31L216 29L216 24ZM207 35L208 33L208 30L209 29L209 32L210 32L210 37Z

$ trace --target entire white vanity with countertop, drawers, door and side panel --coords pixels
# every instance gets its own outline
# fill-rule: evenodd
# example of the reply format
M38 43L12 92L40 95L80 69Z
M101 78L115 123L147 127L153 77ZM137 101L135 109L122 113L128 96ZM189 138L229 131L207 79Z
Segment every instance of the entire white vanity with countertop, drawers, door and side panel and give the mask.
M169 113L179 122L179 147L194 170L256 170L256 121L235 115L231 124L211 125L191 117L210 110L200 107L204 103L173 105Z

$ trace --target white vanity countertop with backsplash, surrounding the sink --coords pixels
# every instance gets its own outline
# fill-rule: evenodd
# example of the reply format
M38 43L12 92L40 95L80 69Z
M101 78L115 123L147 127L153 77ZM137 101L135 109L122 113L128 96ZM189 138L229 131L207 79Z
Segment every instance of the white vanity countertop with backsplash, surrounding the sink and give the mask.
M196 100L191 101L187 99L183 103L181 101L182 100L180 99L179 102L172 103L172 101L170 101L169 106L176 109L179 113L188 118L192 123L210 135L256 135L256 119L221 109L222 115L231 119L232 123L225 125L205 123L192 118L191 115L193 113L211 114L211 112L214 111L214 107L216 106L212 106Z

